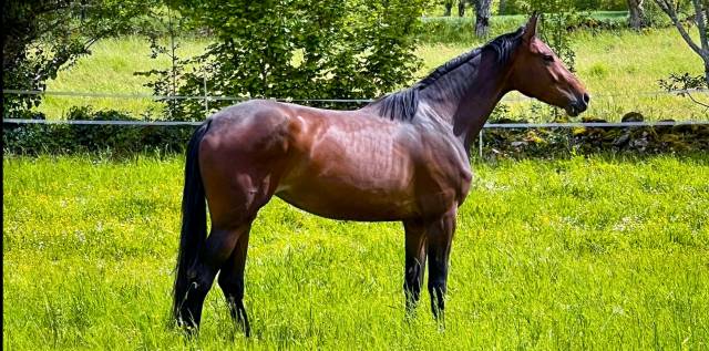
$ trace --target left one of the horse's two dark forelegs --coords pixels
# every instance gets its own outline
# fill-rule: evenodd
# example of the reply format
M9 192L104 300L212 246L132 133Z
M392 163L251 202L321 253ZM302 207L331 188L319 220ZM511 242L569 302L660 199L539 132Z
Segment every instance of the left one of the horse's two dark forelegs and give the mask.
M423 272L425 267L425 230L421 220L404 220L405 231L405 271L403 293L407 300L407 313L412 313L419 303Z

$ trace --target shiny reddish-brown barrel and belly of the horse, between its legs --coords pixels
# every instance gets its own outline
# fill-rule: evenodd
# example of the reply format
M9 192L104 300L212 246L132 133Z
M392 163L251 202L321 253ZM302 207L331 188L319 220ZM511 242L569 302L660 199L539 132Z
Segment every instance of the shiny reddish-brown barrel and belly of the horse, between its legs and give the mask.
M337 143L326 141L302 155L280 182L276 196L328 218L395 220L415 216L414 167L407 149L387 137L348 136L349 144L343 137Z

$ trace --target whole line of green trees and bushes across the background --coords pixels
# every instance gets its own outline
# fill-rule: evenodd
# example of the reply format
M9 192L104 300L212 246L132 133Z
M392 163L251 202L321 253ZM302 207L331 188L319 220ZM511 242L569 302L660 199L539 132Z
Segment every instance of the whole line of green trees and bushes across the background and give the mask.
M470 0L37 0L6 1L2 11L3 89L42 91L61 69L91 53L101 39L144 34L154 55L168 55L171 69L142 72L156 95L370 99L410 82L419 68L413 54L424 11L438 7L463 13ZM614 9L619 0L473 0L475 33L489 35L492 13L546 13L545 40L574 66L568 23L590 7ZM667 89L703 87L709 82L708 0L628 0L630 9L660 11L705 62L705 76L678 74ZM650 8L651 4L651 8ZM595 8L598 9L598 8ZM635 12L630 10L629 22ZM646 13L646 14L641 14ZM645 25L647 22L641 22ZM645 23L645 24L643 24ZM689 34L699 32L698 40ZM166 37L208 37L196 56L177 58ZM29 111L41 95L2 96L7 111ZM210 102L216 110L228 102ZM311 103L317 105L317 103ZM320 103L320 106L328 106ZM343 106L339 107L352 107ZM165 104L169 118L196 118L201 100Z

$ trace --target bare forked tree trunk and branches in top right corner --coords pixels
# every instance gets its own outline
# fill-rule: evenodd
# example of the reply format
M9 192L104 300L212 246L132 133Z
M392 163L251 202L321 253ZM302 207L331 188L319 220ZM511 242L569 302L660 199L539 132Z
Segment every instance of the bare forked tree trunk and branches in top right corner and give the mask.
M677 14L679 3L675 2L675 0L655 0L655 2L670 18L689 48L703 61L705 81L707 86L709 86L709 1L691 0L695 10L695 23L699 31L699 44L691 39L685 24L679 20Z

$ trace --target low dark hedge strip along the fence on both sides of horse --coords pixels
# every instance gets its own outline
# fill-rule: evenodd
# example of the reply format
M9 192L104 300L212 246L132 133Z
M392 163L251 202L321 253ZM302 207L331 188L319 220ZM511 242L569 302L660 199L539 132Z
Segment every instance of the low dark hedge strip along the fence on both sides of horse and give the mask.
M42 118L42 115L24 117ZM133 120L115 111L74 109L71 120ZM623 121L638 122L627 114ZM606 122L584 118L584 122ZM491 123L526 123L501 118ZM21 155L72 154L110 151L114 155L140 152L183 153L196 126L126 126L3 123L3 151ZM477 147L477 142L473 148ZM709 125L633 127L485 128L483 153L500 157L547 157L569 153L682 153L709 151ZM477 151L473 149L472 154Z

